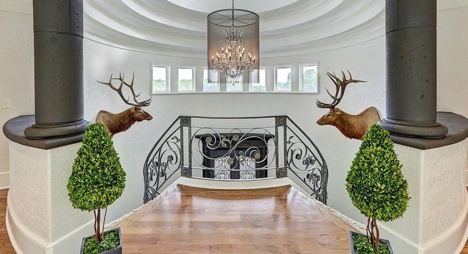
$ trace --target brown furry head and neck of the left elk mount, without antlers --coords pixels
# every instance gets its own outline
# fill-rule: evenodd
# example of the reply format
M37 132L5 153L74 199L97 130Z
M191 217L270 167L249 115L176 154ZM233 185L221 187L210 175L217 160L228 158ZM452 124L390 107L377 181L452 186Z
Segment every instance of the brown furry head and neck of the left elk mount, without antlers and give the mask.
M130 129L135 122L151 119L153 119L153 116L145 112L141 107L131 107L117 114L101 110L96 117L96 122L104 123L112 138L114 135Z

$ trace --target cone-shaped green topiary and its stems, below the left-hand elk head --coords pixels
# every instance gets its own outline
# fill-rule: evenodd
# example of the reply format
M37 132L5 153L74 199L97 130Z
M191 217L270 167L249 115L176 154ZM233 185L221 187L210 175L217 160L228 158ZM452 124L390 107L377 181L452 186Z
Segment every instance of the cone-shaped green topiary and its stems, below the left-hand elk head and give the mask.
M107 207L114 203L125 189L125 171L120 165L114 143L103 123L90 124L68 179L68 196L74 208L93 211L96 240L103 241ZM101 210L104 214L101 230Z

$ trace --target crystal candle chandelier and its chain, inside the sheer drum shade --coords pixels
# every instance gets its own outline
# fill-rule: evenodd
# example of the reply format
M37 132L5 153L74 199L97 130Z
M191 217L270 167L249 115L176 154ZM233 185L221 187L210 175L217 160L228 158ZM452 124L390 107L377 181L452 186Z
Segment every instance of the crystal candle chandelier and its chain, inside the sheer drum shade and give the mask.
M216 55L211 56L211 66L217 71L216 74L229 77L232 81L239 81L245 74L258 75L258 71L254 71L257 69L258 59L250 52L245 52L242 43L244 32L235 27L234 10L234 1L232 1L231 27L224 30L224 45L220 51L216 52ZM211 74L215 75L214 72ZM215 79L215 77L211 78ZM258 79L257 77L253 78Z

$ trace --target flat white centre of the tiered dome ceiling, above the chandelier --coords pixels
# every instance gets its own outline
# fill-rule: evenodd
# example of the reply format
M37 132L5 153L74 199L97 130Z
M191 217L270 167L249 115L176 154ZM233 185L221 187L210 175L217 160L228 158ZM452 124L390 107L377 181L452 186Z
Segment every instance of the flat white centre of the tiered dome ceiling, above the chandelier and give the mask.
M174 5L180 7L203 12L211 13L221 9L231 9L231 0L168 0ZM282 8L291 5L298 0L235 0L234 8L249 10L254 13L261 13L271 11L274 9Z

